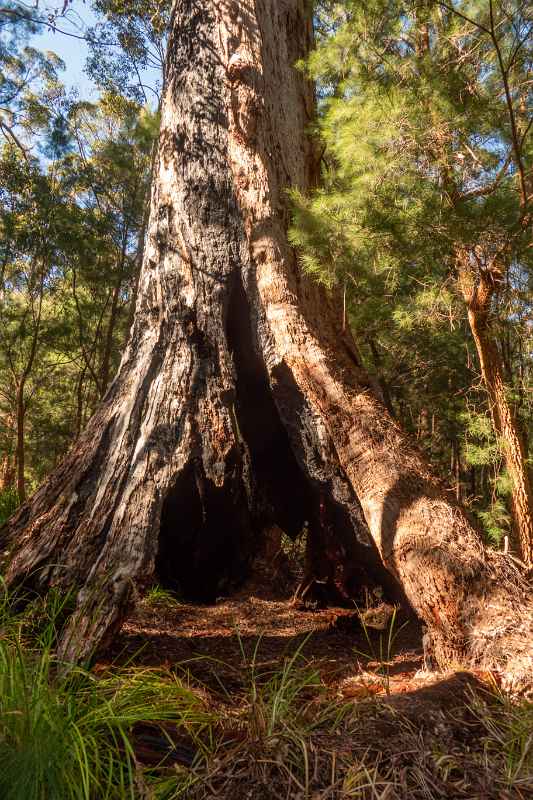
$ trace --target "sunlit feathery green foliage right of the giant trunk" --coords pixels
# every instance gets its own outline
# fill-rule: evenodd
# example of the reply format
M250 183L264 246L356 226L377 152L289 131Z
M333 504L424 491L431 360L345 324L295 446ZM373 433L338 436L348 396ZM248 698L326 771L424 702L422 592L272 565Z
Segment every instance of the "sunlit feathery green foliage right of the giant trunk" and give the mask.
M533 165L533 23L520 3L490 4L492 21L489 4L470 0L316 5L317 48L300 68L319 87L322 186L293 193L291 240L303 268L343 293L389 410L494 540L509 511L504 451L457 265L470 254L475 284L502 261L491 335L531 440L533 250L520 174Z

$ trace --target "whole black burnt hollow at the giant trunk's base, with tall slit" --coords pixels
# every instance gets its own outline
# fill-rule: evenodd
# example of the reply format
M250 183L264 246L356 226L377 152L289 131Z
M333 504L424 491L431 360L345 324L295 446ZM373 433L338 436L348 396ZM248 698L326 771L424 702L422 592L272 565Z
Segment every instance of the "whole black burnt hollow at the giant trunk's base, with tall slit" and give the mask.
M180 474L163 504L157 579L185 599L214 602L246 579L266 526L276 524L296 538L306 525L307 566L320 591L329 586L331 599L339 600L334 580L342 564L346 590L354 596L361 585L375 583L394 593L373 543L363 536L363 544L356 536L364 526L357 500L336 499L331 481L307 477L300 466L253 331L239 274L226 335L236 374L234 412L246 456L234 454L221 487L203 476L201 463L189 463ZM278 377L291 384L292 376ZM291 384L286 389L291 403L303 406L298 388ZM249 470L243 469L246 459Z

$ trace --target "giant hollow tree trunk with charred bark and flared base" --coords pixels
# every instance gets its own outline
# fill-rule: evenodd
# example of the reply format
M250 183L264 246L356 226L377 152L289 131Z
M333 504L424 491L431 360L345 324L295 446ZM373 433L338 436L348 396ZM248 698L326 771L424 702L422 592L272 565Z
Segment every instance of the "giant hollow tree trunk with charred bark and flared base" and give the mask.
M327 520L336 558L379 554L442 664L519 672L518 571L446 499L287 241L286 190L316 180L313 90L293 68L305 8L176 2L130 342L88 429L8 526L8 579L81 585L62 643L80 657L154 571L194 593L229 552L242 569L266 522L294 534Z

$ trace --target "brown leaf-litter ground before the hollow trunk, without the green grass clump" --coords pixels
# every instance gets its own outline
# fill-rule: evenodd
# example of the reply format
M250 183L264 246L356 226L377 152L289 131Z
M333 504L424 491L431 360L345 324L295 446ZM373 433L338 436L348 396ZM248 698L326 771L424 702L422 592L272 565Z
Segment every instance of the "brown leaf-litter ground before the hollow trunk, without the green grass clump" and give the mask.
M306 608L267 573L212 605L154 589L96 665L168 670L213 716L203 746L137 730L139 763L172 787L146 797L533 797L531 703L491 674L424 669L418 622L376 598Z

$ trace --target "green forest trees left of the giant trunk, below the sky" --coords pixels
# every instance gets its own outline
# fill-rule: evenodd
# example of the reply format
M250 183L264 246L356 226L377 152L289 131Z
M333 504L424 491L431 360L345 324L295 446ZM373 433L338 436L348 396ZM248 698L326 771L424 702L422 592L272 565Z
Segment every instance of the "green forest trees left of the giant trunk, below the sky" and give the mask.
M158 126L149 109L106 94L70 105L70 144L50 160L28 160L14 145L0 152L0 453L14 480L23 424L30 487L65 453L118 365Z

